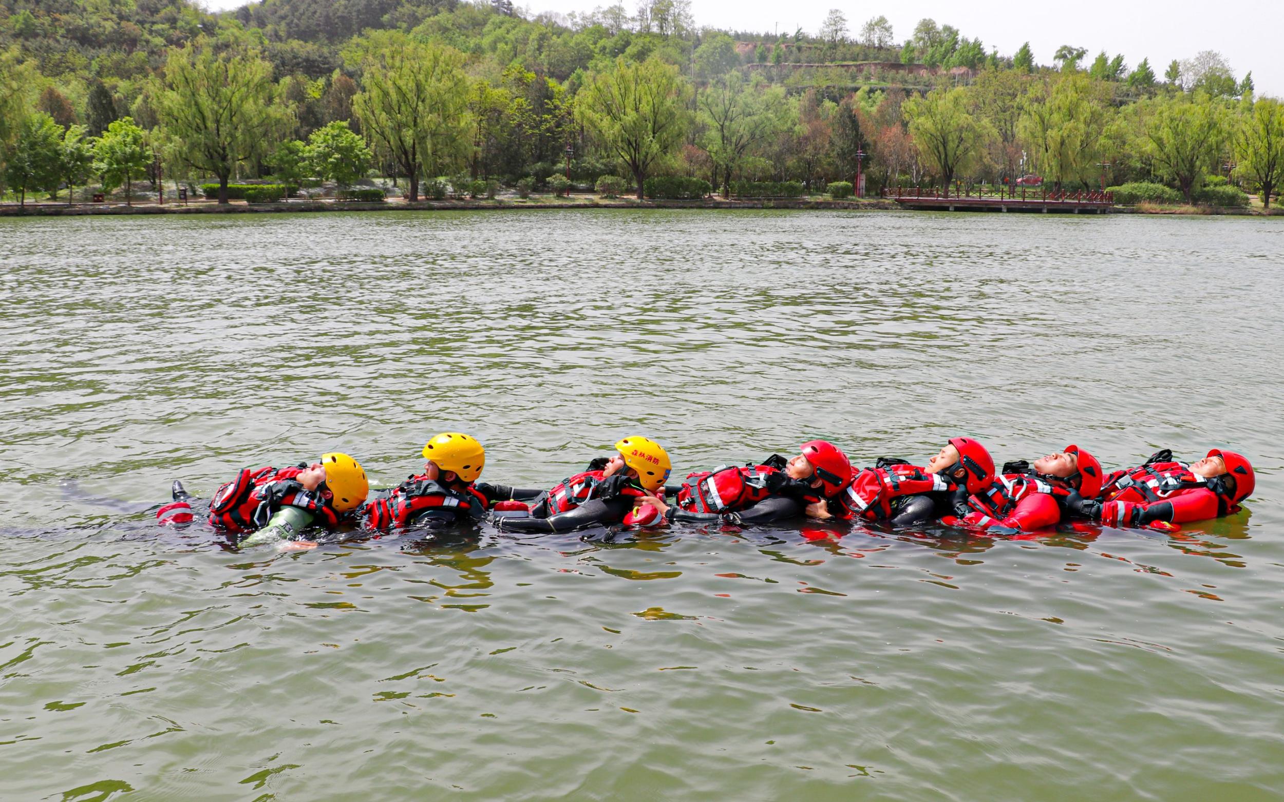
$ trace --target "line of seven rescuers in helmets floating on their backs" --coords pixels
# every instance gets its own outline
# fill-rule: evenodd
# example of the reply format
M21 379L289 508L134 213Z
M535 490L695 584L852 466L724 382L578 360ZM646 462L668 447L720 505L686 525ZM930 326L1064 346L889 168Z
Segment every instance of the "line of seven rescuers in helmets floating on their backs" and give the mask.
M1064 449L995 471L972 438L950 438L926 465L883 457L854 468L828 440L810 440L791 457L722 466L666 484L668 452L650 438L628 436L614 453L551 489L479 481L482 443L443 432L424 445L422 472L371 493L366 472L348 454L288 468L243 470L211 499L209 522L241 544L307 539L304 530L447 529L485 517L507 531L568 533L598 526L665 526L674 521L760 525L788 518L837 518L889 526L941 524L975 533L1017 534L1088 520L1165 531L1240 509L1253 491L1243 456L1212 449L1197 462L1161 450L1144 463L1106 472L1086 449ZM190 522L191 497L173 484L162 524Z

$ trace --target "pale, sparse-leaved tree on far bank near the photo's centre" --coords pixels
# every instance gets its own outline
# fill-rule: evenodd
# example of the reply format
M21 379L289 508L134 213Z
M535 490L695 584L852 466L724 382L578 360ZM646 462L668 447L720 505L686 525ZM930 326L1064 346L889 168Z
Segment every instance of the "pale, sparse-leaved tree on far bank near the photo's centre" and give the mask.
M705 124L701 145L714 163L715 185L731 198L731 180L741 159L785 128L785 87L747 83L738 72L711 82L697 100Z

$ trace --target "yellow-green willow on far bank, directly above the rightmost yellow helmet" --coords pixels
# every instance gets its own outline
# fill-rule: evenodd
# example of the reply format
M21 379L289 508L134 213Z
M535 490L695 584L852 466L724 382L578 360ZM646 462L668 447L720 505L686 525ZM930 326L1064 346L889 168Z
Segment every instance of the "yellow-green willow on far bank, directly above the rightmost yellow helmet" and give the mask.
M690 101L691 85L677 67L654 56L634 64L620 58L589 77L575 109L584 127L628 166L641 200L647 175L687 136Z

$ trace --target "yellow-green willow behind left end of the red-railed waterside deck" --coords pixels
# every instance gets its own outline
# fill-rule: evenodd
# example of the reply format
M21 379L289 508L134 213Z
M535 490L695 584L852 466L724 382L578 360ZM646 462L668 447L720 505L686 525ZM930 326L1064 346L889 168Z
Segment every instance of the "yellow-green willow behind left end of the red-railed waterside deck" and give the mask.
M935 89L924 98L907 100L901 108L914 144L945 187L980 162L993 136L989 123L968 110L964 89Z

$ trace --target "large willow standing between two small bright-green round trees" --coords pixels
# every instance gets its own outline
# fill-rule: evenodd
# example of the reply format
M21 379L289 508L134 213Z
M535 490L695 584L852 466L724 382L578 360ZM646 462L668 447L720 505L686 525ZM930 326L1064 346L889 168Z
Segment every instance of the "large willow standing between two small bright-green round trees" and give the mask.
M169 51L155 110L175 154L218 178L218 203L238 166L263 157L289 113L275 104L272 65L257 51L216 53L202 37Z

